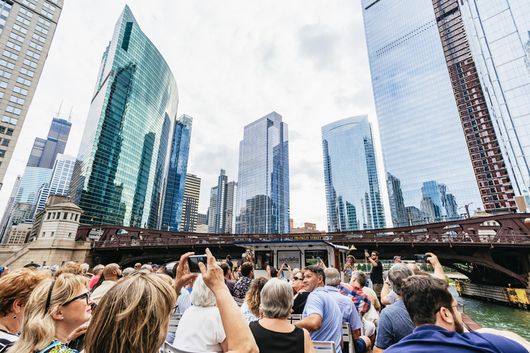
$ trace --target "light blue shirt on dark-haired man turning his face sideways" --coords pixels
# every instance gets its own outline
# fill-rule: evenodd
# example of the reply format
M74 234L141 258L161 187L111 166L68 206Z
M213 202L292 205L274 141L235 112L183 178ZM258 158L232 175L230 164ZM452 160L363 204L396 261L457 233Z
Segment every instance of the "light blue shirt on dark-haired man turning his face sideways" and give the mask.
M311 314L318 314L322 318L320 330L311 332L312 341L334 341L337 353L342 353L340 341L342 339L342 313L339 306L324 287L317 287L307 296L302 319Z

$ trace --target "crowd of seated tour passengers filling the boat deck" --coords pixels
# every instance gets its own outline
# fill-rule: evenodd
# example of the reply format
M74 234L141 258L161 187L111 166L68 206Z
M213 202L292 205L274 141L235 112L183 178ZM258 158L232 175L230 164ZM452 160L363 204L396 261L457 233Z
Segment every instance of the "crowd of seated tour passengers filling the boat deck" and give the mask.
M256 278L250 249L224 263L206 250L200 274L189 271L191 255L173 268L0 267L0 353L155 353L164 342L183 352L315 352L313 341L334 342L337 352L530 352L513 332L464 332L462 306L432 253L429 274L400 256L384 272L379 254L366 252L372 288L353 256L344 274L319 260L302 270L267 265Z

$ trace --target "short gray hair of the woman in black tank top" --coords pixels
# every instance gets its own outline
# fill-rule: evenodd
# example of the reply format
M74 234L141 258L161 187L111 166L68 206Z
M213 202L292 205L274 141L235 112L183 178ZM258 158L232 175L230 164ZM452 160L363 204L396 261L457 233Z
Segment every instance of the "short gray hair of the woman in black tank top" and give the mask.
M263 316L269 319L288 317L294 302L293 288L286 281L270 279L262 289L261 299Z

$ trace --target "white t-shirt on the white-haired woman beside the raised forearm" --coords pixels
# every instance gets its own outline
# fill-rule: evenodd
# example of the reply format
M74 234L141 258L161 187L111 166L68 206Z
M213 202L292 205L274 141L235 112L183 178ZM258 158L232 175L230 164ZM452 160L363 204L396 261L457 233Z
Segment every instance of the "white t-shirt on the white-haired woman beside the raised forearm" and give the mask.
M173 346L187 352L223 352L221 345L226 339L221 314L217 307L190 307L179 321Z

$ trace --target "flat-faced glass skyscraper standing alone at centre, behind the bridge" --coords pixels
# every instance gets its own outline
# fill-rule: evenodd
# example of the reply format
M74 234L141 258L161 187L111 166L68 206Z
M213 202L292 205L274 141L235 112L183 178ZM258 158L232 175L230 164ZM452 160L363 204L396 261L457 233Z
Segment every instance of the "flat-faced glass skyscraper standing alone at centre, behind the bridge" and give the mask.
M288 126L277 112L245 126L237 179L235 233L288 233Z

